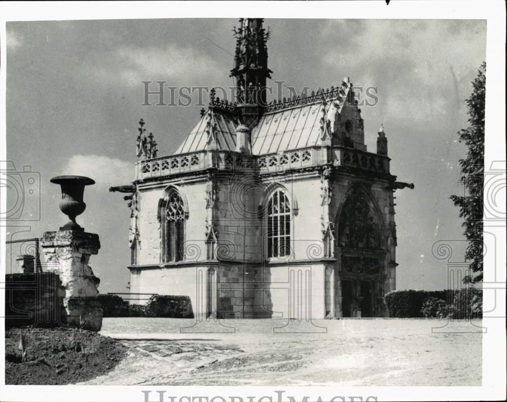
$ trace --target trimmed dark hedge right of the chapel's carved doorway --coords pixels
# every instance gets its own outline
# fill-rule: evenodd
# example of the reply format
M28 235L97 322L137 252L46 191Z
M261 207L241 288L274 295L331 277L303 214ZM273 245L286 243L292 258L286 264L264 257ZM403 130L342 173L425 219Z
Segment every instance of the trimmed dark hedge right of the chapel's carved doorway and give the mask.
M428 299L431 301L425 302ZM436 302L434 299L445 302ZM482 317L482 290L467 288L460 290L394 290L385 295L384 301L389 317L420 318L438 317L479 318ZM439 306L434 306L438 304ZM438 308L439 307L439 308ZM445 313L447 310L447 313Z

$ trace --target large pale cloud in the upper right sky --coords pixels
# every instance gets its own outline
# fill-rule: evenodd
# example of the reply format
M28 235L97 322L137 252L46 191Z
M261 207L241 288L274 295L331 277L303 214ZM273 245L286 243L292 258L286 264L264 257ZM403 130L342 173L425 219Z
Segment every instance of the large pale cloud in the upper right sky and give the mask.
M377 86L379 112L412 123L452 119L485 59L485 21L327 21L324 65L344 66L355 85ZM341 38L333 42L333 38ZM454 68L453 68L454 67ZM354 77L355 75L355 77ZM450 104L451 103L451 104Z

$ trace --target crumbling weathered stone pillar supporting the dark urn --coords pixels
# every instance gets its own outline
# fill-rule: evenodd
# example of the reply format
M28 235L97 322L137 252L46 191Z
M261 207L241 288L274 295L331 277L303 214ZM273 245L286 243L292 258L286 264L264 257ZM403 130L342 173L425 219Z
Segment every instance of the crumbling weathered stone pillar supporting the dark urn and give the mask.
M67 325L100 331L102 307L97 299L97 278L88 261L100 248L98 235L75 230L46 232L41 239L48 271L59 275L65 289L63 306ZM52 263L52 264L51 264Z

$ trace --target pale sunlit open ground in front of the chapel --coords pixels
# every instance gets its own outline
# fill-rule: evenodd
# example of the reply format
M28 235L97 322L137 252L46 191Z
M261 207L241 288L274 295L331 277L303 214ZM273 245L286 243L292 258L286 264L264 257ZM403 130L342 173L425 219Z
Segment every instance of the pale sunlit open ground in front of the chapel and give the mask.
M481 320L104 318L128 356L83 384L481 385Z

